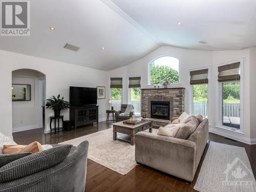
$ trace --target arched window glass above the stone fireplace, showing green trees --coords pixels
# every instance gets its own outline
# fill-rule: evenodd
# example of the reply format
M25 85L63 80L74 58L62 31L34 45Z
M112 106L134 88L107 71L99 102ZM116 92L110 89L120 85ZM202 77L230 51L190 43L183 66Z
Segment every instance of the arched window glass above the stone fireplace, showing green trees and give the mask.
M170 84L180 82L180 62L178 58L161 56L151 61L148 65L148 84L163 84L166 79Z

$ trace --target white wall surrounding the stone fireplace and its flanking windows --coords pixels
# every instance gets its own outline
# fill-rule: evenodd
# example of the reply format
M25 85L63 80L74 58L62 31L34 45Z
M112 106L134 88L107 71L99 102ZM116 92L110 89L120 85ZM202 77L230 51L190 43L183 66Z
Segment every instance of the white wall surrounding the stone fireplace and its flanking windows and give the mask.
M155 51L147 54L146 56L140 58L139 60L131 63L130 65L124 66L119 69L115 69L109 72L109 77L114 76L123 76L123 103L127 103L127 77L130 75L142 75L142 88L146 88L148 83L148 63L154 58L160 55L171 55L180 58L181 64L181 84L180 87L185 88L185 111L189 112L189 69L200 68L200 67L211 67L211 75L210 75L210 98L209 98L209 109L210 109L210 117L209 123L212 129L215 129L216 124L216 106L219 105L219 101L216 98L217 90L217 66L220 63L244 58L244 134L236 134L234 133L234 137L240 137L241 141L250 142L250 139L256 138L256 130L255 130L255 120L251 121L251 119L255 119L254 112L255 107L250 110L250 102L246 102L250 100L250 96L255 95L255 88L253 88L255 84L255 75L253 78L250 78L250 72L255 71L255 53L256 49L251 50L254 56L254 63L250 62L250 49L245 49L241 51L200 51L200 50L189 50L189 49L181 49L169 46L162 46ZM252 53L251 53L252 54ZM250 67L254 70L250 70ZM250 83L250 80L254 83ZM254 94L253 94L254 93ZM254 99L254 98L253 98ZM251 101L253 100L251 98ZM255 100L255 99L254 99ZM255 101L254 106L255 106ZM253 131L252 131L253 130ZM252 134L253 133L253 134ZM219 133L220 134L220 133ZM232 133L233 134L233 133ZM231 134L231 135L232 135ZM225 136L230 136L226 134Z

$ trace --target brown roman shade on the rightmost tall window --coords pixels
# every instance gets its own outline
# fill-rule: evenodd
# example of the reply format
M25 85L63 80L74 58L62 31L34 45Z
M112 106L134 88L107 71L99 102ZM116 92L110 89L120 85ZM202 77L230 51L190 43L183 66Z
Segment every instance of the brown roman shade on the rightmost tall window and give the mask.
M218 81L240 80L240 62L218 67Z

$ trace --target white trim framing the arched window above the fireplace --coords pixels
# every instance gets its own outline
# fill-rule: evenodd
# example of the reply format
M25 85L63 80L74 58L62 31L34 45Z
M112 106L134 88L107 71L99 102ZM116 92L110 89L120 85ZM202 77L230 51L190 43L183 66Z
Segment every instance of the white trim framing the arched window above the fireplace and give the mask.
M155 84L150 84L150 63L153 62L154 60L160 58L160 57L175 57L177 59L179 59L179 82L178 83L171 83L169 84L169 87L181 87L181 58L173 55L173 54L162 54L159 55L157 57L155 57L154 59L152 59L150 62L147 63L147 88L155 88ZM156 84L157 88L159 86L159 88L163 88L164 86L162 84Z

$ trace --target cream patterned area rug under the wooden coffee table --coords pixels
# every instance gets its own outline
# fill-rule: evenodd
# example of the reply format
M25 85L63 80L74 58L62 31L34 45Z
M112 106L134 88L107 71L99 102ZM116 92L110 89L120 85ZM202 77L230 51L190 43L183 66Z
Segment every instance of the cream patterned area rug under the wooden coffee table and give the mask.
M126 135L117 134L117 137L126 137ZM85 140L89 141L88 158L115 172L126 175L137 165L135 161L135 145L113 140L112 128L59 144L77 146Z

